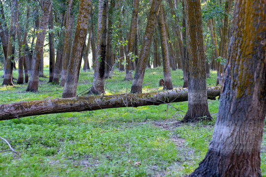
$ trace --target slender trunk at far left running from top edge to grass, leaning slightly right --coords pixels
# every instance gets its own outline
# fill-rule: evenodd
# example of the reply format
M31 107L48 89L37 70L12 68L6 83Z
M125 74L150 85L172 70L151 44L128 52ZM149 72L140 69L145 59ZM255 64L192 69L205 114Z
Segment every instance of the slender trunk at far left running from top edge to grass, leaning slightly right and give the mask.
M18 19L18 3L17 3L17 0L12 0L7 58L5 62L4 79L3 79L2 85L13 86L13 83L12 83L12 78L13 78L12 49L14 47L13 45L16 40L17 19Z

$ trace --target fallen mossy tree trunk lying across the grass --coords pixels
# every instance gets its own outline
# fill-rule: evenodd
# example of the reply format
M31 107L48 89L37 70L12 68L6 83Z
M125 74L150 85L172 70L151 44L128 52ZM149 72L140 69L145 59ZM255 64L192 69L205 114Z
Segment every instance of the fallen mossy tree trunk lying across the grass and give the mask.
M207 87L208 99L215 99L215 97L220 95L220 90L221 87ZM182 102L188 100L187 92L188 89L186 88L178 88L152 93L80 96L73 98L58 98L1 104L0 120L44 114Z

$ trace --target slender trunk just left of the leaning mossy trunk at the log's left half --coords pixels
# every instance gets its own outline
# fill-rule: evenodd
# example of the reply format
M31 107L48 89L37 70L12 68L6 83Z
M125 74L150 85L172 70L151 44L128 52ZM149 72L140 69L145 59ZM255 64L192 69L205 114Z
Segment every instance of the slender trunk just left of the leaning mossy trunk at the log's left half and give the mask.
M74 20L74 15L72 14L72 6L73 0L68 0L68 6L66 11L66 30L65 30L65 41L64 41L64 49L63 49L63 69L60 86L64 87L66 82L66 73L67 73L67 63L69 60L69 50L71 49L71 36L72 36L72 28L71 24ZM82 44L83 47L84 44Z

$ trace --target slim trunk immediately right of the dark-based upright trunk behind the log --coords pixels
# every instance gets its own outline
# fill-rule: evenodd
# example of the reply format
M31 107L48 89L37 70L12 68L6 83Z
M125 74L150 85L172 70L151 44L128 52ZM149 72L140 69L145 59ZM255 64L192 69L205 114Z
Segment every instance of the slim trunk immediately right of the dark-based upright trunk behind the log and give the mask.
M106 43L106 62L104 78L109 78L112 65L112 32L113 32L113 13L115 0L110 0L109 18L108 18L108 29L107 29L107 43Z

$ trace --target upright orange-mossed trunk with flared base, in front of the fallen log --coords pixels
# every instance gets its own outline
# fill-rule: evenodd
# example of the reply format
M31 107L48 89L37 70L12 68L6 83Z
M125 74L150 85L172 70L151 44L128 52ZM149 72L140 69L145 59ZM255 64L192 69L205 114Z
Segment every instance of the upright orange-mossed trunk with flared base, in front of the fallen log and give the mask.
M203 46L200 0L185 0L188 47L188 112L183 122L211 120L206 92L206 57Z

